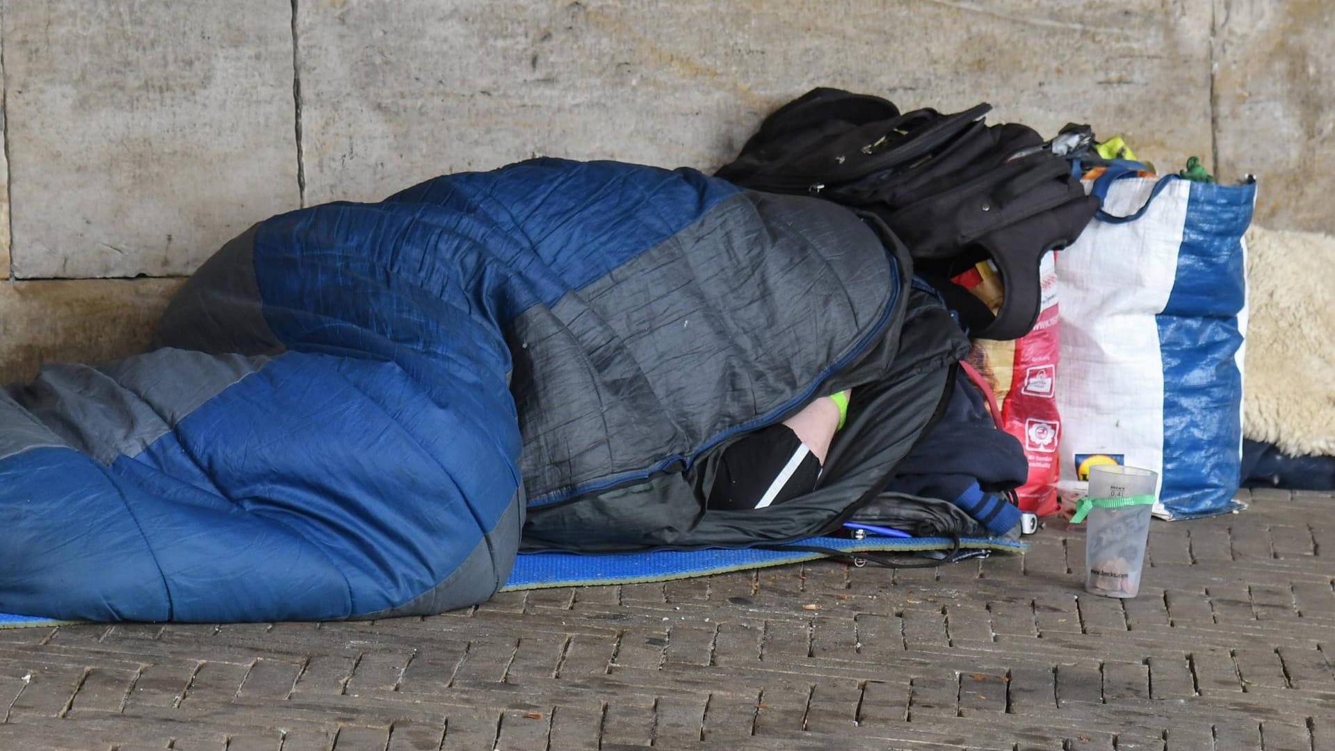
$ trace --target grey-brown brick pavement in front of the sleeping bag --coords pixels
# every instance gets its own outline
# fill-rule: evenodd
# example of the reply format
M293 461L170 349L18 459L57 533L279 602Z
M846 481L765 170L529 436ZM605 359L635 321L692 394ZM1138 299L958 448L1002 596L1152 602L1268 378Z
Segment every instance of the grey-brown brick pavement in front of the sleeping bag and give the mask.
M1246 494L1246 493L1244 493ZM427 619L0 631L0 750L1335 748L1335 497L936 571L814 563Z

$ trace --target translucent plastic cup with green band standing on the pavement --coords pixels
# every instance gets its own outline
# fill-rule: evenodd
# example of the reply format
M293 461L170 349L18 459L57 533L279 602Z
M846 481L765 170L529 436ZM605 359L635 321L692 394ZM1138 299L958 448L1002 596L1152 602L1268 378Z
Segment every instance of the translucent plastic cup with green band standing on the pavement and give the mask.
M1135 597L1149 543L1149 516L1159 474L1136 466L1089 469L1089 496L1080 501L1085 522L1085 591ZM1079 521L1080 514L1076 514Z

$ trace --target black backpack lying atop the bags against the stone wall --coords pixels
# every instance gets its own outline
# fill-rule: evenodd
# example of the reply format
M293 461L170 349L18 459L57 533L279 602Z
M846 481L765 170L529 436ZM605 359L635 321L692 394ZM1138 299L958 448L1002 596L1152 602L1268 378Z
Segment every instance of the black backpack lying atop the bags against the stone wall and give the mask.
M816 88L766 118L717 176L880 216L971 335L1013 339L1037 319L1043 255L1075 242L1099 200L1073 174L1075 152L1053 152L1027 126L984 124L991 110L901 114L878 96ZM1087 127L1067 132L1092 142ZM949 281L983 259L1005 291L996 315Z

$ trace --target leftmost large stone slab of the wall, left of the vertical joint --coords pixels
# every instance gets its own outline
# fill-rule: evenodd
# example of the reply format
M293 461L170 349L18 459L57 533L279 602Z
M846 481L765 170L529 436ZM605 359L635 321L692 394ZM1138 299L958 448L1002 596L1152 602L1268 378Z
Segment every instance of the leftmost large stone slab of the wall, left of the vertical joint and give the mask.
M9 4L13 275L183 274L295 207L290 20L260 0Z

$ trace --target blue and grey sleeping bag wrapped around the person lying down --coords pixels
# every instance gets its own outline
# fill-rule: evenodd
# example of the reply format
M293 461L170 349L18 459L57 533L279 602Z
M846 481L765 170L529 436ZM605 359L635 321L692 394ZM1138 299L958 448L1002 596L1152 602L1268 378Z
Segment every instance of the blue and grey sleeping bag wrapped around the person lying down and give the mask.
M151 353L0 392L0 612L435 613L521 547L828 532L967 347L874 219L693 170L539 159L303 208L210 259ZM817 490L705 513L730 441L854 386L877 417Z

